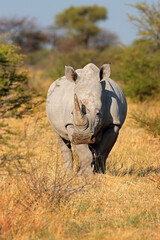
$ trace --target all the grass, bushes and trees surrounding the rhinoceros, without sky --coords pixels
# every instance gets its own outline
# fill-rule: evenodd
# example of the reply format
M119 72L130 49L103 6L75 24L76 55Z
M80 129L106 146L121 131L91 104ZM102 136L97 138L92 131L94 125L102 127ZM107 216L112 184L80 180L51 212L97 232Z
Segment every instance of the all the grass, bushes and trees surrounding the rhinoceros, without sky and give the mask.
M96 5L70 7L43 29L0 18L0 239L159 239L160 3L132 7L139 39L130 46L99 27L108 12ZM65 65L89 62L111 63L128 116L107 174L79 176L75 154L68 176L45 97Z

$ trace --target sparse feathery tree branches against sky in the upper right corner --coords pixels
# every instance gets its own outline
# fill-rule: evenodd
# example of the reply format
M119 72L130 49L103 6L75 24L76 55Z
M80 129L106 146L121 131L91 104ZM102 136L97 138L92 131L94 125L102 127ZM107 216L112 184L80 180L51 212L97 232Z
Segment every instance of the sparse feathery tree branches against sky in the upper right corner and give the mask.
M138 11L136 16L128 15L130 21L137 27L138 35L156 41L160 47L160 1L151 6L146 2L130 6Z

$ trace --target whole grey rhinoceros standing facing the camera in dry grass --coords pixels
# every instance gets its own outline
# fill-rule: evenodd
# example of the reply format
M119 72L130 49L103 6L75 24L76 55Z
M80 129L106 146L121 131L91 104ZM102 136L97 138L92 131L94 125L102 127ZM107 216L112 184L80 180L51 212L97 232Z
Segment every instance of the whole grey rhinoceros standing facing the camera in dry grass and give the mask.
M58 135L67 171L73 167L72 143L80 172L105 173L106 159L127 113L125 96L109 76L109 64L99 69L90 63L76 71L67 66L65 76L49 88L47 117Z

